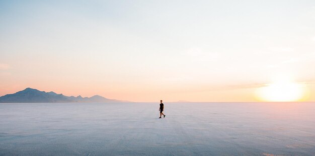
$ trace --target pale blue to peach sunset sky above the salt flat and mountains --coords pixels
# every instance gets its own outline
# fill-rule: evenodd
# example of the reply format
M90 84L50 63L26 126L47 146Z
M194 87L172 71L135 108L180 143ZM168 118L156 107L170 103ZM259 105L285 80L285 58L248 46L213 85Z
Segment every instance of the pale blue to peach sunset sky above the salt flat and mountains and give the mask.
M315 1L0 1L0 96L315 101L314 60Z

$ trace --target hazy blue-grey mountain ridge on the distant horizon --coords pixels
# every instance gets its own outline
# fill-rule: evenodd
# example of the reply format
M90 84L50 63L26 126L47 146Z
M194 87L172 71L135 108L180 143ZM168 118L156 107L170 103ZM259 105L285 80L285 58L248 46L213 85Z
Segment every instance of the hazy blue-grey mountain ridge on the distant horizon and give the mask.
M0 97L0 103L57 103L57 102L130 102L123 100L108 99L99 95L92 97L64 96L55 92L39 91L26 88L14 94L7 94Z

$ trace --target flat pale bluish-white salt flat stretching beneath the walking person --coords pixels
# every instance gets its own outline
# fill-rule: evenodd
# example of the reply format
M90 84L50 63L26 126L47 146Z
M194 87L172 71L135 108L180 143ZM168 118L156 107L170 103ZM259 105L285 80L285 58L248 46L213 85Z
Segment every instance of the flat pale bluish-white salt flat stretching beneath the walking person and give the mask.
M0 104L0 155L314 155L315 103Z

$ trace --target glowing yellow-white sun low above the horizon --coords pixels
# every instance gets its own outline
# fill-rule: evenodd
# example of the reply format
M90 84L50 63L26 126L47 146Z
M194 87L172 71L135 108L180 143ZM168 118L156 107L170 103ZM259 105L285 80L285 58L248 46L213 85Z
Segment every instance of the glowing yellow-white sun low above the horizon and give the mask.
M288 78L281 78L259 88L258 96L264 101L299 101L303 97L303 92L303 85Z

